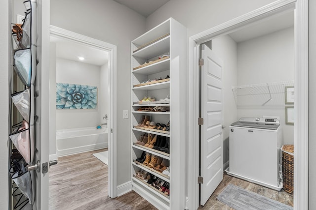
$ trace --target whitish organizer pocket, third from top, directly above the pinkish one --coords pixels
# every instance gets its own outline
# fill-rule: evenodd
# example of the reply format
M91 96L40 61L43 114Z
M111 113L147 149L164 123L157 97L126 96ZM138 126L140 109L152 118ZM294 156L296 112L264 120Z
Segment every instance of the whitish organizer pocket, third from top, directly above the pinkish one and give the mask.
M23 119L30 122L30 89L12 94L11 99Z

